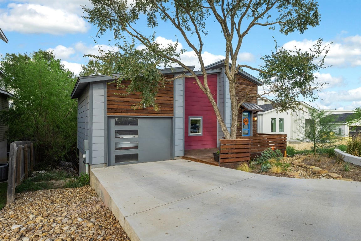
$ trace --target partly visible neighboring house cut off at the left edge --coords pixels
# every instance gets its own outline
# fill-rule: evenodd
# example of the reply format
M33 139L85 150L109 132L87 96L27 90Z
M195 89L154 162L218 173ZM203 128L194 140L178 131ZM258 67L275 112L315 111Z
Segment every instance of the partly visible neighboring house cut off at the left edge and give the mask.
M5 43L8 43L3 31L0 29L0 39ZM14 95L6 91L5 87L2 85L1 78L4 76L4 72L0 70L0 112L7 111L9 108L8 98L13 98ZM6 131L8 130L8 125L0 119L0 164L6 164L8 159L8 138L6 136Z

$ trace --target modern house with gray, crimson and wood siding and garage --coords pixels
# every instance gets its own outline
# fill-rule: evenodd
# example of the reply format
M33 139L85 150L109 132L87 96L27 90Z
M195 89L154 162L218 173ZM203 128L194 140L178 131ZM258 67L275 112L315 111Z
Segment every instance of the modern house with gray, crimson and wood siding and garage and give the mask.
M194 69L194 66L192 66ZM229 82L224 60L208 65L208 85L227 128L231 126ZM183 68L162 69L165 76L185 73ZM202 81L203 74L199 71ZM132 109L140 93L127 96L125 90L108 84L113 77L83 76L75 84L71 98L78 99L79 171L125 163L152 162L182 158L185 150L215 148L224 134L213 108L192 77L175 79L158 91L159 111L151 107ZM125 82L126 83L126 82ZM236 91L257 94L262 82L240 71ZM238 136L254 135L253 116L261 109L256 97L240 109ZM247 119L247 121L244 121ZM249 122L247 125L244 122ZM241 124L242 123L242 124ZM85 160L84 160L85 158Z

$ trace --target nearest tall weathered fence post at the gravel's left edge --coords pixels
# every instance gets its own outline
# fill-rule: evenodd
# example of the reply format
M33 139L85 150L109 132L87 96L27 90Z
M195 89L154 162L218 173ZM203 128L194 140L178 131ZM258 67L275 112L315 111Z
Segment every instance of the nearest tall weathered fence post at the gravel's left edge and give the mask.
M10 144L10 155L9 155L9 178L8 178L8 195L6 197L6 203L14 202L15 195L15 184L16 184L16 143Z

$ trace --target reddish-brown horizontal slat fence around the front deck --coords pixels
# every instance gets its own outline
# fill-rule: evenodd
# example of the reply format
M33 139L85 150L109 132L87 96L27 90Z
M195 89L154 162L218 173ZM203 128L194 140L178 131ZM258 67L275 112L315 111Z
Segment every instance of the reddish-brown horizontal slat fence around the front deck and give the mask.
M240 162L249 161L269 147L280 150L285 154L287 147L287 135L262 134L239 139L219 140L219 166L236 165Z

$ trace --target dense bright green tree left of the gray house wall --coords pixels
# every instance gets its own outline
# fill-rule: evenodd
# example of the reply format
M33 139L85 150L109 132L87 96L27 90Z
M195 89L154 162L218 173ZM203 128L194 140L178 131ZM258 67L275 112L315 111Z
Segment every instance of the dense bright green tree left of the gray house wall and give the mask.
M77 143L77 102L70 99L74 74L52 52L7 53L0 62L12 99L4 113L10 141L36 143L43 161L64 158Z

